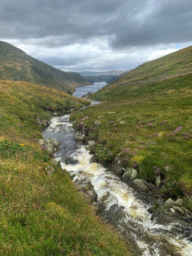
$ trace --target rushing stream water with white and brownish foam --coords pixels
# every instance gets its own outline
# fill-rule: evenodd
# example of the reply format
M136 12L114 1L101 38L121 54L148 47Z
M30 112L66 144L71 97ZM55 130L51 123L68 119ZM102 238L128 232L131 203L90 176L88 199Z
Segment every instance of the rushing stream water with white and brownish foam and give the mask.
M95 104L99 102L91 102L91 105ZM58 124L63 126L57 126ZM191 239L189 234L192 235L192 230L187 230L188 227L183 227L179 222L163 226L151 221L151 214L147 211L150 205L138 199L132 188L101 164L90 164L92 155L86 150L84 144L75 141L69 114L54 116L50 126L43 132L43 136L45 139L52 137L61 142L55 156L61 161L63 168L75 173L76 178L91 179L98 194L99 205L104 209L109 221L114 223L126 239L133 243L134 255L192 255L192 243L188 240ZM79 164L66 165L66 157L78 160ZM187 234L185 234L186 230Z

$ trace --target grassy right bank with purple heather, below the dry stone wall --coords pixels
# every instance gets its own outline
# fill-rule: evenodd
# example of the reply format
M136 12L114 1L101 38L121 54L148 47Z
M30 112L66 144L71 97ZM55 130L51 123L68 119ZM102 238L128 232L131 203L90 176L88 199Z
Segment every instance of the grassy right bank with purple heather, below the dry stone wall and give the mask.
M87 140L97 140L94 152L101 161L120 154L123 165L136 168L139 178L154 183L160 175L163 194L176 199L191 195L191 95L191 74L144 84L116 83L91 96L102 100L101 105L72 113L71 120L78 124L88 116L83 120Z

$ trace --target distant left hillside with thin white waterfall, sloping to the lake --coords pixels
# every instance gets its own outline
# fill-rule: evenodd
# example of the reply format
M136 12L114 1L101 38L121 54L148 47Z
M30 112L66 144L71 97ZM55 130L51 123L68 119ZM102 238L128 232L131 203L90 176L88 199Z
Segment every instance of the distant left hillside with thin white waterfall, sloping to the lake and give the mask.
M18 74L17 74L18 73ZM7 42L0 41L0 79L43 84L67 92L91 82L77 73L68 73L34 59Z

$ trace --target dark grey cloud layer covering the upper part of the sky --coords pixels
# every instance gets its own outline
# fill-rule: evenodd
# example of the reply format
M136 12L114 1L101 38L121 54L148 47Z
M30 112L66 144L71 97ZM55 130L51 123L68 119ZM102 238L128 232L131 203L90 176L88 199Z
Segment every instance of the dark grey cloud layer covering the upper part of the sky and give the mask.
M1 39L55 47L106 36L113 49L192 40L191 0L0 0ZM55 38L55 39L54 39Z

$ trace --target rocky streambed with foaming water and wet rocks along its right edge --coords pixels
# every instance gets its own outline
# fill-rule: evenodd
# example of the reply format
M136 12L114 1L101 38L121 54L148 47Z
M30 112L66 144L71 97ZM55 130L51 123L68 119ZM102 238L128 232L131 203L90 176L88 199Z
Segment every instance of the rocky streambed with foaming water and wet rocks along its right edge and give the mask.
M126 175L122 181L123 175L117 176L111 165L103 166L94 160L96 156L89 154L89 146L76 142L69 115L54 116L42 134L45 139L51 137L60 141L56 160L76 175L74 180L81 193L83 189L89 191L94 202L97 199L95 193L98 195L100 214L132 243L134 255L192 255L191 218L189 213L179 214L182 205L169 201L169 205L164 205L165 209L157 210L155 204L164 203L158 189L135 178L135 187L131 187ZM66 164L67 157L78 162ZM134 176L134 172L131 175ZM140 182L144 184L143 189L137 189L142 187Z

